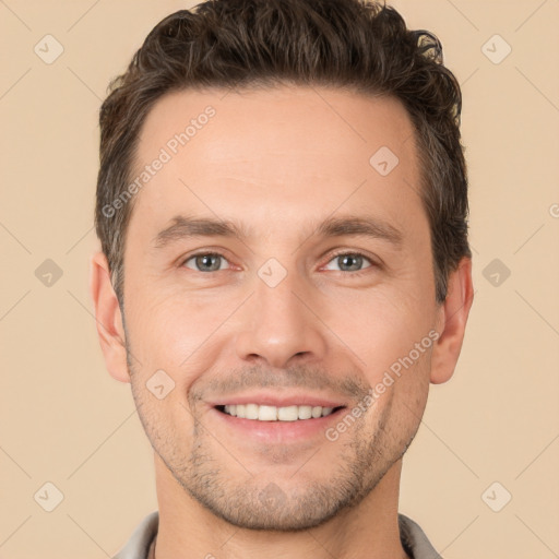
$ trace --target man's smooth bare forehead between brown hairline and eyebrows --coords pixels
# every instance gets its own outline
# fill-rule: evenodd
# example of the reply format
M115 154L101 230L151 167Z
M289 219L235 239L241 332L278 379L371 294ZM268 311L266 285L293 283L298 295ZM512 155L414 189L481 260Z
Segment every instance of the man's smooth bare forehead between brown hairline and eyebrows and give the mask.
M156 160L158 169L145 166ZM388 173L386 173L388 171ZM396 99L335 88L181 91L142 128L132 222L165 225L179 210L274 221L344 206L406 219L420 211L413 126ZM224 213L228 215L223 215ZM134 214L136 214L134 216ZM229 215L230 214L230 215ZM214 215L214 217L215 217Z

